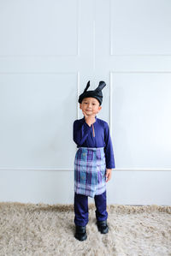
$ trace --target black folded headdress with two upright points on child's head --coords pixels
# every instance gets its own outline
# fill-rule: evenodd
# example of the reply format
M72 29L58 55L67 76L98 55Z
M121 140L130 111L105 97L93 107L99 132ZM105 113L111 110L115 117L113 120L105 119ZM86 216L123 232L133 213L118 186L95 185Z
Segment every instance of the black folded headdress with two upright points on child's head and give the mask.
M97 100L99 101L99 104L101 105L103 101L102 89L104 86L106 86L106 83L103 80L101 80L99 82L99 85L94 91L87 91L89 86L90 86L90 80L88 81L85 87L85 91L82 94L80 94L79 103L82 102L83 98L92 97L92 98L97 98Z

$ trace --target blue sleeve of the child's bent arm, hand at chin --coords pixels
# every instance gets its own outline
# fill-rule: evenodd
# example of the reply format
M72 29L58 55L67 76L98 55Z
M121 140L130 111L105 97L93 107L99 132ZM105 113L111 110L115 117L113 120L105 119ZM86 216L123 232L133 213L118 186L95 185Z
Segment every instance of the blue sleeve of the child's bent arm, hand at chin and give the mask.
M91 127L86 122L74 121L73 140L77 146L82 146L88 134L91 132Z

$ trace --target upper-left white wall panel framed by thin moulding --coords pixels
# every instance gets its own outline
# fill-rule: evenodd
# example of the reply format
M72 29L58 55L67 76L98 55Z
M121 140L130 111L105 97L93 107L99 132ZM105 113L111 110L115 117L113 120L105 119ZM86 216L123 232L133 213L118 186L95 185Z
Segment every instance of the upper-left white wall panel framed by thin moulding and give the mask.
M78 0L0 1L0 56L77 55L78 26Z

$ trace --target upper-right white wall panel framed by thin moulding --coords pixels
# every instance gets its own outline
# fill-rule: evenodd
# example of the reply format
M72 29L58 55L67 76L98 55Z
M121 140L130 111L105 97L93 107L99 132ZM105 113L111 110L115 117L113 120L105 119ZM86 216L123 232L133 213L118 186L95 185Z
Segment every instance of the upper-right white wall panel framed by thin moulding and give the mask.
M171 55L169 0L111 0L112 55Z

